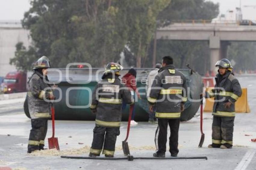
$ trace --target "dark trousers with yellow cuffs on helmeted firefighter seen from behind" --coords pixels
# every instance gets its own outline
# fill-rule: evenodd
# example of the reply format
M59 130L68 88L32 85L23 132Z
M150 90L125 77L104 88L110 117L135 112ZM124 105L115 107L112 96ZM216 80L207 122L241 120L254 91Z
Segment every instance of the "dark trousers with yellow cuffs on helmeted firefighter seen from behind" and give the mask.
M99 156L103 147L102 154L114 156L118 135L120 135L120 127L95 126L90 153Z

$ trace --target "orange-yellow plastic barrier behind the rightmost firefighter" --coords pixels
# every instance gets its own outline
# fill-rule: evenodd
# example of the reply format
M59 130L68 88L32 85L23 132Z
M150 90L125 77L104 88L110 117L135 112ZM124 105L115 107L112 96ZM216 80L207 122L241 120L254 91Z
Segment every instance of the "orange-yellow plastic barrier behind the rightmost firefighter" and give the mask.
M208 91L208 89L206 89ZM205 100L204 112L212 112L214 98ZM247 99L247 88L242 88L242 96L238 98L235 104L236 113L250 113L250 107Z

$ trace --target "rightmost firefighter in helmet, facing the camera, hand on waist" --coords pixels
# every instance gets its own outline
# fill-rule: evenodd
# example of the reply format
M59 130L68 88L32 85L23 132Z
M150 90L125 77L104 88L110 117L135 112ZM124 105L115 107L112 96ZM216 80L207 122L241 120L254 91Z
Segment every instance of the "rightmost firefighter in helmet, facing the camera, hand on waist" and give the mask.
M228 59L216 62L219 67L214 89L205 92L205 98L214 97L212 144L209 148L232 148L235 119L235 102L242 95L240 84Z

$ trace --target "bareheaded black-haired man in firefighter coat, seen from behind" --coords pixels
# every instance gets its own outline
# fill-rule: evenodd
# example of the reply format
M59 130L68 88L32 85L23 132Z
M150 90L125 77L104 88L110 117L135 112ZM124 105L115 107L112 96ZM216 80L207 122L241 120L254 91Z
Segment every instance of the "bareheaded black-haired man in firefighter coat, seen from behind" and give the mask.
M155 157L165 157L168 124L170 126L169 151L171 156L177 156L180 114L187 100L186 78L175 69L173 58L163 57L162 66L153 81L148 97L149 110L153 111L155 105L155 117L158 119L159 134L156 141L158 151L153 154Z

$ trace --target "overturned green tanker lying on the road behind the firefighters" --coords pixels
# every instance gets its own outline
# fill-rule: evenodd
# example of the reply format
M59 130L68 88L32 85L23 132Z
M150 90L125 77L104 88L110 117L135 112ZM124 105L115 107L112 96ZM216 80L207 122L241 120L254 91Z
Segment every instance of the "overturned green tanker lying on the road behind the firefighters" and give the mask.
M145 84L148 73L152 68L135 68L137 71L137 87L142 99L135 103L135 120L148 120L148 102L145 94ZM91 93L94 90L97 81L101 80L104 68L59 68L48 69L48 79L51 84L55 83L58 88L54 90L56 96L55 119L56 120L95 120L95 115L90 112ZM200 106L200 93L203 90L201 76L191 69L178 69L186 77L188 98L196 100L191 102L187 100L185 110L181 113L181 121L187 121L195 116ZM121 71L121 76L128 72L128 69ZM144 94L144 95L143 95ZM27 101L27 100L26 100ZM24 111L30 118L28 104L25 101ZM127 121L129 106L123 110L122 120Z

